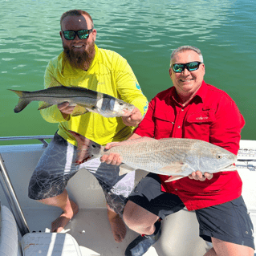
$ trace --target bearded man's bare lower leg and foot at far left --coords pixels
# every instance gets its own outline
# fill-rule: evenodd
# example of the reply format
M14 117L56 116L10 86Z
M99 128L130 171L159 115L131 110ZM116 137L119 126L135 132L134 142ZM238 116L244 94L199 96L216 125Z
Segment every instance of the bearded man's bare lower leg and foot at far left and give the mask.
M79 211L78 205L69 199L66 189L59 196L42 199L40 202L63 209L63 213L55 221L51 222L51 232L61 232L71 218Z

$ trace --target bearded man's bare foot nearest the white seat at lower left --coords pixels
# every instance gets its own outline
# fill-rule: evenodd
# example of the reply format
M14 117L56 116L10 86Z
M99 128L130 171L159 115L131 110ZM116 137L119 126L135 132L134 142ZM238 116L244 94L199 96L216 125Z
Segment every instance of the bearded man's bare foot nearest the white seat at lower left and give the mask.
M71 218L74 217L76 213L78 213L79 207L75 204L74 201L71 201L71 207L72 211L70 213L62 213L55 219L55 221L51 222L51 232L61 232L67 223L71 221Z

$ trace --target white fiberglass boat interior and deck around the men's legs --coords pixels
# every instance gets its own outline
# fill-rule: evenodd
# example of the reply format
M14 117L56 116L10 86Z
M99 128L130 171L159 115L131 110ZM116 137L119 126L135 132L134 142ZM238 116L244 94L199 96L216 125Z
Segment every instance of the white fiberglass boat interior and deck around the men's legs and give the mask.
M40 204L27 197L27 185L30 175L34 171L42 152L42 144L0 147L0 153L5 161L10 181L14 186L30 232L50 232L51 221L55 220L61 213L60 209ZM250 210L254 226L256 226L256 172L245 168L240 169L239 173L244 183L243 197ZM138 174L136 180L139 181L140 177L144 175L145 173ZM64 232L71 234L75 238L82 255L124 255L124 250L136 238L137 234L132 230L128 230L123 242L116 243L114 241L108 223L104 193L95 177L86 170L80 170L69 181L67 190L71 199L78 203L79 213L68 223ZM9 207L2 188L0 188L0 198L2 205ZM199 238L198 233L195 213L181 210L163 221L161 238L144 255L204 255L209 250L210 245Z

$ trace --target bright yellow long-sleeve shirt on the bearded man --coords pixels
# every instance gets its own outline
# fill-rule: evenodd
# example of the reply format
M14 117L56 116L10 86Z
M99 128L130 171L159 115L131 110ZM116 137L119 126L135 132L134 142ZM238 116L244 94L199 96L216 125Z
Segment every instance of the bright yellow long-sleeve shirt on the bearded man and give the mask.
M114 51L95 46L95 58L87 71L71 67L62 52L48 64L44 86L47 88L60 84L85 87L112 95L139 108L142 116L148 109L148 100L140 90L132 68L126 59ZM59 135L71 144L75 144L75 140L68 130L104 145L124 140L133 129L124 125L121 117L106 118L92 112L82 116L69 116L65 120L56 105L41 110L41 115L47 122L59 123Z

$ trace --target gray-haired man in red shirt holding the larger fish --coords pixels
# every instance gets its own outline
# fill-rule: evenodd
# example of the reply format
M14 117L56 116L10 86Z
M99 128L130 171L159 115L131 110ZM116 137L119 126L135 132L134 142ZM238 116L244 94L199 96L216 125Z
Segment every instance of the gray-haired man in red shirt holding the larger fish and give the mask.
M151 100L144 120L129 139L199 139L237 154L245 121L226 92L204 82L201 51L177 48L169 74L173 87ZM102 156L101 161L120 165L121 157ZM145 235L128 246L126 256L143 255L161 235L159 219L185 206L196 211L201 238L213 243L205 256L254 255L254 228L241 196L238 172L201 172L171 182L165 182L167 176L149 173L140 181L128 197L123 217L130 229Z

